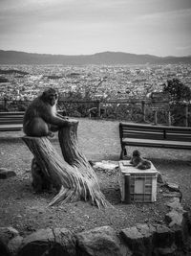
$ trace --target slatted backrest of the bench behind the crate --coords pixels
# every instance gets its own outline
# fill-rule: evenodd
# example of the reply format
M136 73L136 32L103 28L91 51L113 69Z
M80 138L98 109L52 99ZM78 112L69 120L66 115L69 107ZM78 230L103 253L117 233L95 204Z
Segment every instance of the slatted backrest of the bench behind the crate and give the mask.
M119 123L119 136L152 140L191 141L191 128Z

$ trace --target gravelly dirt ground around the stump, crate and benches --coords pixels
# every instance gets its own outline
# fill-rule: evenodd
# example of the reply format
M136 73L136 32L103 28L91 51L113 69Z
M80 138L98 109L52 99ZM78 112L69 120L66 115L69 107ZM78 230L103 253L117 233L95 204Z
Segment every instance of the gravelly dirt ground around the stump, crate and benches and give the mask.
M168 209L166 198L158 194L154 203L124 204L120 201L118 170L97 169L96 175L105 197L114 207L98 209L89 202L77 201L48 207L53 193L35 194L32 190L32 153L19 139L22 132L0 133L0 167L9 168L15 177L0 180L0 225L15 227L23 236L38 228L66 227L74 232L111 225L117 231L136 223L162 223ZM120 152L118 122L79 119L78 142L88 160L117 161ZM59 145L56 137L53 146ZM136 148L128 149L129 155ZM182 204L191 209L190 151L139 148L152 160L168 181L180 184Z

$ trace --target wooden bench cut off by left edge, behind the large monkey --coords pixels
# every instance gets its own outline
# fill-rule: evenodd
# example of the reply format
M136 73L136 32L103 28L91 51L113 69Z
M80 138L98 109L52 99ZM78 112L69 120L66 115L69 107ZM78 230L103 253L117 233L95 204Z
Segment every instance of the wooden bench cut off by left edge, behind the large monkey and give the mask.
M0 131L16 131L23 128L24 112L0 112Z

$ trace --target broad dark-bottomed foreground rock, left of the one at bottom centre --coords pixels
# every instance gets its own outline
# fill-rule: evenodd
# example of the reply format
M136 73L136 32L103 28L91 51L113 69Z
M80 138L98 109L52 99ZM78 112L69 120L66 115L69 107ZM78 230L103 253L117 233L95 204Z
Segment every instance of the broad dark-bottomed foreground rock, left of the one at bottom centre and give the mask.
M74 256L75 238L73 233L66 228L39 229L23 240L17 255Z

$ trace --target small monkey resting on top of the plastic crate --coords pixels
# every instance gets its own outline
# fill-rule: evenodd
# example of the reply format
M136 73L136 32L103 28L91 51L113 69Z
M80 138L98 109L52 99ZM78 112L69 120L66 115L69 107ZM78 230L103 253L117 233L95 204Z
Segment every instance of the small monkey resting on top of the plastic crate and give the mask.
M146 170L151 168L151 162L146 160L140 156L139 151L133 151L133 156L130 160L130 164L134 167L138 168L139 170Z

